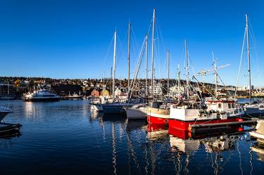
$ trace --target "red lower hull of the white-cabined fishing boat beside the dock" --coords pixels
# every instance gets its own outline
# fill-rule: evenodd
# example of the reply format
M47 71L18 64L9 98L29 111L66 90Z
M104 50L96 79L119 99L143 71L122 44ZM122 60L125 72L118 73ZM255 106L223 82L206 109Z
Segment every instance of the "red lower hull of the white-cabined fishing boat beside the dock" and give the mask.
M240 118L232 117L229 119L213 119L213 120L201 120L201 121L182 121L177 119L169 119L169 127L175 129L187 130L189 129L190 124L215 124L223 122L238 122Z

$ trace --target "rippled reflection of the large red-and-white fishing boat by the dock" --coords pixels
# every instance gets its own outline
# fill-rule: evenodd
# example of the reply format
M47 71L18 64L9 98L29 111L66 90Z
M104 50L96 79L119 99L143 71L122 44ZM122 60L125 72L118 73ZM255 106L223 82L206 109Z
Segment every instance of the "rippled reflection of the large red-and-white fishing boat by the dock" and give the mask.
M169 128L170 150L174 153L175 171L177 171L177 174L182 174L182 171L184 174L188 174L190 167L194 166L193 164L191 165L191 162L195 154L198 151L203 152L203 149L205 153L208 153L205 160L210 160L208 163L211 164L213 173L222 174L225 163L230 159L223 156L222 153L227 150L235 150L237 141L243 138L238 135L238 133L241 133L241 128L239 127L232 128L226 133L213 133L211 136L192 136L189 131ZM239 147L237 147L237 151L239 152ZM207 169L207 171L212 171L212 169Z

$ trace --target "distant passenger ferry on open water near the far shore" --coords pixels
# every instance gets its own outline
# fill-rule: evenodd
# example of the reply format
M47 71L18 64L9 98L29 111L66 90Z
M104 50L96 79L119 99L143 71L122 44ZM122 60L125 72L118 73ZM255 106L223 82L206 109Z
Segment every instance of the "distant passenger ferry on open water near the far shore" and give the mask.
M24 93L23 101L60 101L61 96L57 96L56 93L52 93L47 89L41 89L32 93Z

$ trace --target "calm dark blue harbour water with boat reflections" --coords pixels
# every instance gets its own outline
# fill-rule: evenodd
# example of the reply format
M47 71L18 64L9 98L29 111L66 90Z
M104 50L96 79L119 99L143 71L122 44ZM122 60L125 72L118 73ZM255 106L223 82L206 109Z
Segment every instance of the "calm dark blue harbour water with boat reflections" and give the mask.
M0 105L4 102L0 102ZM106 118L89 101L8 102L5 122L22 135L0 138L1 174L263 174L249 133L187 139L146 122ZM150 131L151 130L151 131ZM174 135L177 135L174 134ZM261 150L261 149L260 149ZM262 150L264 152L264 149Z

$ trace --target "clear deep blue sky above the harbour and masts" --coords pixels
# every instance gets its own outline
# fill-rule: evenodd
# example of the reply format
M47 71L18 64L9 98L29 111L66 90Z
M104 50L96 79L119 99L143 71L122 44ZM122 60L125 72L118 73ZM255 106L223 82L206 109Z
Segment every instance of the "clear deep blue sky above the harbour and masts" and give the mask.
M218 65L231 63L219 73L225 84L235 85L244 38L244 14L248 13L253 84L264 86L264 1L261 0L1 0L0 76L101 78L105 74L109 77L113 65L111 41L116 29L116 77L127 77L127 22L132 23L133 70L151 24L153 8L157 19L156 77L166 77L167 50L170 77L176 77L177 64L184 77L183 49L187 39L195 72L212 67L213 51L219 58ZM246 58L243 60L240 84L246 84L248 78ZM207 82L213 82L212 75L208 75Z

